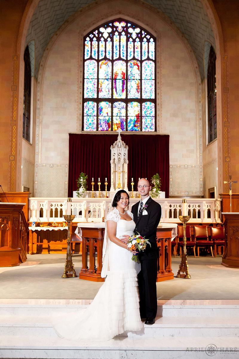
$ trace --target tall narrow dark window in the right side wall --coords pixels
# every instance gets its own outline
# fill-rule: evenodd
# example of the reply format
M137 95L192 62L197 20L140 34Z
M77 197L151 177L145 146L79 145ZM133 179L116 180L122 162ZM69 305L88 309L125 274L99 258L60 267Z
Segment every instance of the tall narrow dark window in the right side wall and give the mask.
M208 143L217 138L216 127L216 54L211 46L207 67L207 108L208 108Z

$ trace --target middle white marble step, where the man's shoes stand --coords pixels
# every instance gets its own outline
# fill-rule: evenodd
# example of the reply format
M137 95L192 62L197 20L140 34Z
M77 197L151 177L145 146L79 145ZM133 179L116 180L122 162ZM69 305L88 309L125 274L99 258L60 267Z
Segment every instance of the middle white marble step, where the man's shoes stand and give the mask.
M51 324L51 317L40 316L0 316L0 336L56 337ZM128 333L128 337L139 334ZM156 318L154 325L144 325L141 337L239 337L239 321L237 317L161 317ZM119 337L127 337L121 334ZM15 340L15 339L14 339Z

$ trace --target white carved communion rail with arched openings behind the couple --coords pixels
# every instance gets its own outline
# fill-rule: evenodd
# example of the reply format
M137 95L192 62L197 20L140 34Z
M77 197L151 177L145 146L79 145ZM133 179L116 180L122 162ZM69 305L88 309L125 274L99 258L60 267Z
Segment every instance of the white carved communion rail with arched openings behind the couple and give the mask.
M159 198L162 208L161 222L180 223L182 199ZM130 198L130 209L138 202ZM110 198L72 198L71 211L75 214L73 222L102 222L110 207ZM67 198L29 198L29 222L62 222L67 214ZM221 223L221 199L188 198L189 222Z

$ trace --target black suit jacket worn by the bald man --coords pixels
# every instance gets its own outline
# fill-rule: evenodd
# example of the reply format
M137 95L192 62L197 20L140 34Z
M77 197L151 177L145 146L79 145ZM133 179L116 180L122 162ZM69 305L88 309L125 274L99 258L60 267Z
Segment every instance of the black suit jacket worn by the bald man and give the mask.
M161 219L161 205L152 200L151 197L149 197L145 205L147 205L147 208L141 212L139 218L139 202L132 206L132 213L134 216L134 222L136 224L134 233L139 233L142 237L148 239L151 244L151 247L149 244L147 244L145 250L139 253L140 261L146 259L156 259L159 257L156 243L156 232L159 221ZM143 215L143 212L145 213L145 211L147 211L147 214Z

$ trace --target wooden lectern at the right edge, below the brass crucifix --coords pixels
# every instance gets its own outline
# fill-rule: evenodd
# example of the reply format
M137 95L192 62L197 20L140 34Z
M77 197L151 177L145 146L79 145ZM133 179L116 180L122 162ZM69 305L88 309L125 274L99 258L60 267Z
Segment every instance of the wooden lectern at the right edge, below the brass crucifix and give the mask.
M222 265L239 268L239 212L222 212L225 217L225 252Z

